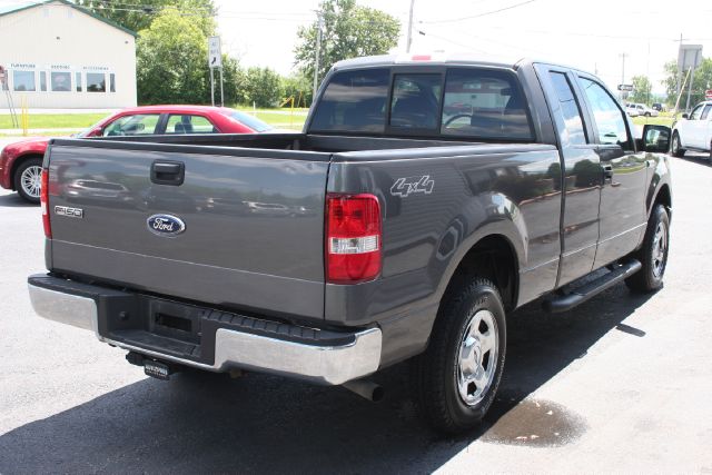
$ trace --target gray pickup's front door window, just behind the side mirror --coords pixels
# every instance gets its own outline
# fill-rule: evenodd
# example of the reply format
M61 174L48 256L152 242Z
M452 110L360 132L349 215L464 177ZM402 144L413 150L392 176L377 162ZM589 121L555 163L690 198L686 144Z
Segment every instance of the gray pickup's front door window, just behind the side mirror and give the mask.
M624 150L633 150L633 140L625 126L624 112L615 99L597 82L581 78L581 85L596 123L599 142L603 145L619 145Z

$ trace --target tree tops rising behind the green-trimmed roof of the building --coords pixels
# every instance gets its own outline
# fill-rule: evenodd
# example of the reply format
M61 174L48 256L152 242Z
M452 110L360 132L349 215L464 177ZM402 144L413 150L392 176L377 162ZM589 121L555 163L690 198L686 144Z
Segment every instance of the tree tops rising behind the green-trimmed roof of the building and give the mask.
M172 7L191 18L205 34L215 30L212 0L76 0L76 3L136 32L150 27L165 7Z

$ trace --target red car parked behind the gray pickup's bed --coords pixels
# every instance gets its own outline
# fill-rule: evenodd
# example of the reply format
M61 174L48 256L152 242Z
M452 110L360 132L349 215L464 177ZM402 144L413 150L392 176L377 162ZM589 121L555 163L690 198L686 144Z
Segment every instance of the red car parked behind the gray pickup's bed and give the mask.
M146 106L107 117L77 137L165 133L260 133L274 130L261 120L235 109L209 106ZM8 145L0 154L0 186L40 202L42 156L48 138Z

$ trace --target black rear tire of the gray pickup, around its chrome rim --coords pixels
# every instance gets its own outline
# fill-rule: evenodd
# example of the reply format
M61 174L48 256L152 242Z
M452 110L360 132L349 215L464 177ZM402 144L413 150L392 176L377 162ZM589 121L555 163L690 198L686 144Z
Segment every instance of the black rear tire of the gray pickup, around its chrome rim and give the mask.
M481 389L479 384L474 380L466 385L458 382L464 375L461 362L466 345L465 331L471 328L471 323L478 321L475 319L483 318L482 316L488 321L494 321L494 325L490 323L485 327L487 334L494 330L497 343L496 349L485 352L475 350L475 347L482 349L478 343L471 345L472 355L475 355L472 359L482 354L478 367L485 370L483 378L486 383L482 384ZM486 337L481 334L481 328L478 325L478 336ZM428 347L413 365L412 377L421 416L431 427L445 434L458 434L476 427L494 400L502 378L505 354L505 313L494 284L485 278L473 278L448 291L438 311ZM467 396L471 387L481 390L482 394L473 394L473 404L467 404L461 396L461 387L466 388Z

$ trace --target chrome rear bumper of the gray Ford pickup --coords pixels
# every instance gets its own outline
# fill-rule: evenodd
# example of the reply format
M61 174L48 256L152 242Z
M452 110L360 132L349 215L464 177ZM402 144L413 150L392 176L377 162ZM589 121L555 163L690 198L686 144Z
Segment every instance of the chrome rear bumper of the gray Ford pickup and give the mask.
M99 306L91 297L33 285L32 278L29 293L32 307L40 317L91 330L99 340L120 348L200 369L226 372L243 368L339 385L375 373L380 364L382 333L378 328L349 334L353 339L348 344L334 346L218 328L215 334L215 363L206 365L101 336Z

